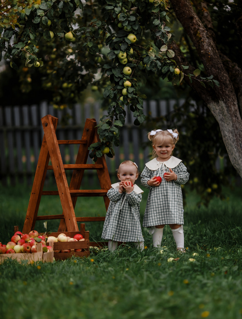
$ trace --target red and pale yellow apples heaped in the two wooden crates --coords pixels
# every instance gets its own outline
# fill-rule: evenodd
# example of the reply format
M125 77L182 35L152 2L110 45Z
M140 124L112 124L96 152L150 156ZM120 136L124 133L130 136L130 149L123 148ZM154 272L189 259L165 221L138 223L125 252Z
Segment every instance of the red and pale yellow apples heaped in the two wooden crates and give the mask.
M66 236L66 234L59 234L58 237L39 235L37 230L32 230L29 234L22 234L20 231L14 233L6 245L0 242L0 254L17 254L17 253L36 253L37 243L42 244L43 252L53 251L51 246L47 246L47 242L65 242L65 241L84 241L81 234L74 235L74 238ZM70 249L55 250L55 253L70 252ZM82 249L75 249L75 251L82 251Z

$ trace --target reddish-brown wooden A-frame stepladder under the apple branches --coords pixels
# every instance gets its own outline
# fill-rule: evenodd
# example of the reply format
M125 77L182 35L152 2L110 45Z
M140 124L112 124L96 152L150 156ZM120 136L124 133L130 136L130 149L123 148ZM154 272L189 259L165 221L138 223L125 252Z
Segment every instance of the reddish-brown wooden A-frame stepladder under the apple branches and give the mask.
M46 115L41 119L44 136L40 149L39 160L35 172L33 187L29 199L27 214L24 222L23 233L29 233L35 228L36 220L60 219L58 232L78 231L77 222L104 221L105 217L76 217L74 208L77 197L102 196L106 211L109 205L107 191L111 188L110 176L108 173L105 156L98 158L95 164L86 164L89 156L88 147L92 143L99 141L97 133L97 122L95 119L86 119L81 140L57 140L56 127L58 118ZM75 164L62 162L59 144L80 144ZM49 160L51 164L49 165ZM57 191L43 191L47 170L53 170L57 184ZM80 190L82 177L85 169L97 170L101 189ZM73 170L73 174L68 186L65 170ZM42 195L59 195L62 214L37 216ZM103 245L102 242L90 242L91 246Z

